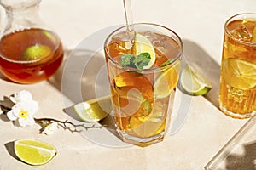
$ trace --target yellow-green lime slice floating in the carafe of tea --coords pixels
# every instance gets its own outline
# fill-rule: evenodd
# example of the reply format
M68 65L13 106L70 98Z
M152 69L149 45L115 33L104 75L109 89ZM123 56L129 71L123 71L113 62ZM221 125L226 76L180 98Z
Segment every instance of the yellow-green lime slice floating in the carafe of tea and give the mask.
M51 54L51 49L46 45L36 44L26 48L22 57L26 60L44 59Z

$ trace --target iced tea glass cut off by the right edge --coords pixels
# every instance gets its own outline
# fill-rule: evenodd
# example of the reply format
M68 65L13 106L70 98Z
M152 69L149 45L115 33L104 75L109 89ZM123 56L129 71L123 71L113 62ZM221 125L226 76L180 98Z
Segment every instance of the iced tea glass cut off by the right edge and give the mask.
M224 26L219 107L228 116L256 113L256 14L236 14Z

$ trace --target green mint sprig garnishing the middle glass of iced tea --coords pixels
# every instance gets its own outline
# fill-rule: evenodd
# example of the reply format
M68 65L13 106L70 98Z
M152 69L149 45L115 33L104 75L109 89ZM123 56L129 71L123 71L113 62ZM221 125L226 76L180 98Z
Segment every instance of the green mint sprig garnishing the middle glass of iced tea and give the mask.
M144 66L147 66L151 56L149 53L141 53L136 57L132 54L123 54L121 56L121 65L136 68L139 71L143 70Z

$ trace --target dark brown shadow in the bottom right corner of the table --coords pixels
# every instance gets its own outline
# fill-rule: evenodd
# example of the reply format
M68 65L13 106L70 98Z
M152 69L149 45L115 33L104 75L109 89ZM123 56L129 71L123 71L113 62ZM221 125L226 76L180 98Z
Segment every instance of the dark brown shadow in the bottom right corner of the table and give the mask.
M225 159L225 170L256 170L256 141L243 145L244 154L230 154Z

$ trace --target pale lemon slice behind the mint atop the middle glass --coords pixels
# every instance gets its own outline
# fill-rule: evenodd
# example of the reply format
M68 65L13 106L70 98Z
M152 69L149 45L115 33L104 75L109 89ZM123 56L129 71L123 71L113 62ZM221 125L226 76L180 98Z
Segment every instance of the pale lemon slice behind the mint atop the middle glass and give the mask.
M147 37L143 36L142 34L136 33L133 45L133 52L137 56L141 53L148 53L150 54L150 61L148 65L143 66L143 69L149 69L154 65L155 62L155 52L153 44L148 40Z

